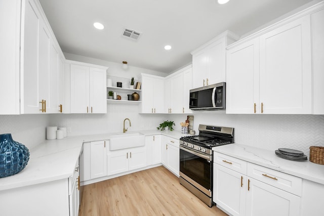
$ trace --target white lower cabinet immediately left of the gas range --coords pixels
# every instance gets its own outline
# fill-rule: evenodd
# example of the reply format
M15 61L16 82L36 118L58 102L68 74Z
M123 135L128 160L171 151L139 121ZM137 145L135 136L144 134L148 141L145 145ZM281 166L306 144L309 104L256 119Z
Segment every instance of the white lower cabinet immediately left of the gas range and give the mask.
M161 137L161 162L174 175L179 177L180 170L179 140L167 136Z

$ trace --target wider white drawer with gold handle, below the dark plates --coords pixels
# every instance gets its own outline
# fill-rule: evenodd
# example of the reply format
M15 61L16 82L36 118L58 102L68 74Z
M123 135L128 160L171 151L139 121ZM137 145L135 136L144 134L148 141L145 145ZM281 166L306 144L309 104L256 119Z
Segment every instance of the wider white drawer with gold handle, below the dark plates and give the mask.
M302 194L302 179L284 172L248 163L248 176L297 196Z

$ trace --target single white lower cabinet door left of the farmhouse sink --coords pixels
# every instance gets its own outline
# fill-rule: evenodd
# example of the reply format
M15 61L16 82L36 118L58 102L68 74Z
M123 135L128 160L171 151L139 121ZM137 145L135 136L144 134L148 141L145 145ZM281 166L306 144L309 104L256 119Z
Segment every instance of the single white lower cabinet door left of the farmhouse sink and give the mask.
M90 143L91 148L91 179L107 175L107 141Z

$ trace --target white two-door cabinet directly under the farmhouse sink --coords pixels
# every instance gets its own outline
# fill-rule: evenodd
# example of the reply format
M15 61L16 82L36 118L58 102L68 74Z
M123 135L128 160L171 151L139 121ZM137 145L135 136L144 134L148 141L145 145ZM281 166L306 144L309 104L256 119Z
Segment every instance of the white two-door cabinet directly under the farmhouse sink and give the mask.
M137 147L116 151L108 151L107 175L142 168L146 166L146 148Z

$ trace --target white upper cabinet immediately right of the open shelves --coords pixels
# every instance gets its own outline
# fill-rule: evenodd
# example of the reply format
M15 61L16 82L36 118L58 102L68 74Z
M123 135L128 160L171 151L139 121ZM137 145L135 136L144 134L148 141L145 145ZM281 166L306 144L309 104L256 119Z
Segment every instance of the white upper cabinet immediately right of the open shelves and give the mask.
M164 77L142 73L142 113L164 113Z

